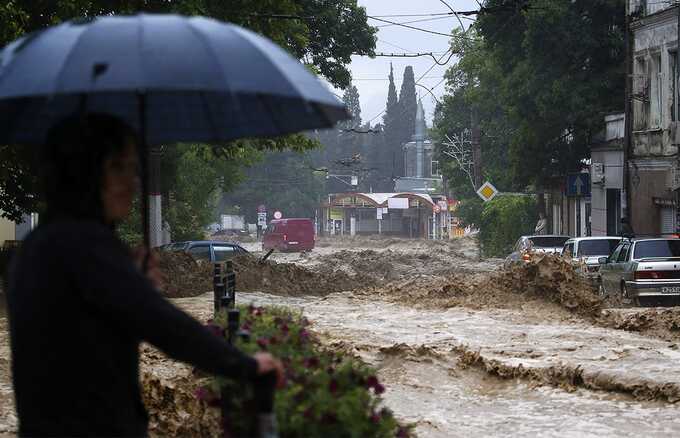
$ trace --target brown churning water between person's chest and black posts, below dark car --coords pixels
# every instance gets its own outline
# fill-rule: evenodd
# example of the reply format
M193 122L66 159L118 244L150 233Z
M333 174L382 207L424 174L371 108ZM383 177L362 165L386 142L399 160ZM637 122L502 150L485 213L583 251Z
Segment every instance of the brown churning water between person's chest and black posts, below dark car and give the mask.
M159 251L164 277L161 291L169 298L195 297L212 290L212 265L184 252Z

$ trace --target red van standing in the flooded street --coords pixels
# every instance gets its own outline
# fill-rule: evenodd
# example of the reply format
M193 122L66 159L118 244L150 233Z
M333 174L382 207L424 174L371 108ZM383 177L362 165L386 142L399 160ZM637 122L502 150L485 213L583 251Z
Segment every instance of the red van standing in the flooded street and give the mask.
M262 240L262 249L311 251L314 248L314 223L311 219L274 219Z

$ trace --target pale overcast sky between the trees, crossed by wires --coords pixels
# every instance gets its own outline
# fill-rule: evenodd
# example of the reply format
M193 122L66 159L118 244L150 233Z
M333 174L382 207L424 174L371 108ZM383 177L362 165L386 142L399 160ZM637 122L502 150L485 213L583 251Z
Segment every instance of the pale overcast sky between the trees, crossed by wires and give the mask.
M475 0L446 0L446 2L456 11L479 9ZM460 26L458 20L453 16L446 16L445 18L385 17L386 15L397 14L449 12L449 9L439 0L359 0L358 3L360 6L366 8L367 15L394 22L403 23L436 18L432 21L409 23L409 26L447 34L451 33L451 30L454 27ZM369 19L368 23L372 26L384 26L378 28L376 53L434 52L441 56L449 48L449 38L446 36L429 34L401 26L392 26L388 25L388 23L373 19ZM463 24L466 28L470 23L472 23L472 21L463 19ZM444 58L444 61L446 58L448 58L448 55ZM374 59L362 56L352 57L350 69L354 78L354 85L359 89L359 96L361 98L361 119L364 122L367 122L375 117L371 122L372 125L382 122L382 115L379 117L376 116L385 109L385 103L387 102L387 76L390 73L390 61L394 65L394 79L397 87L397 94L401 87L404 68L407 65L413 66L413 71L417 80L434 64L434 61L429 56L418 58L376 57ZM455 57L451 58L448 65L452 65L455 61ZM447 68L447 66L435 66L419 83L427 88L432 88L443 79L444 72ZM416 92L423 98L425 116L428 121L428 126L430 126L436 102L423 88L416 87ZM433 90L433 93L437 98L439 98L443 92L444 83L439 84L439 86ZM338 91L338 94L341 93L341 91Z

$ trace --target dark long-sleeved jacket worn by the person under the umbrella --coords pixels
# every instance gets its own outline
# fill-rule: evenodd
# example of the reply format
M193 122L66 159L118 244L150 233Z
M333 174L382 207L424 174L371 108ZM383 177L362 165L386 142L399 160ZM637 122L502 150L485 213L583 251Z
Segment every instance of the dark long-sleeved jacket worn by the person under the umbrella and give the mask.
M145 435L141 341L209 373L256 373L252 358L161 297L96 222L38 227L12 264L7 299L21 435Z

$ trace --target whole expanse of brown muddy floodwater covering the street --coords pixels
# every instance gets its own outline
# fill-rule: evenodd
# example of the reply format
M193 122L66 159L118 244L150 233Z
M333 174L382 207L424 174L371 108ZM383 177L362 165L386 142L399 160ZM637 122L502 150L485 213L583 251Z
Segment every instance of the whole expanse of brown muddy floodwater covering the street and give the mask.
M471 238L317 243L309 254L235 260L237 301L304 312L324 345L378 369L384 403L418 436L680 436L680 308L570 295L559 272L561 288L550 272L538 285L503 276L502 260L480 260ZM185 298L175 304L212 316L212 293L176 292ZM0 305L0 436L16 431L8 347ZM189 367L143 350L142 371L158 385L191 380ZM188 415L159 406L165 423Z

